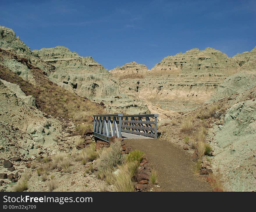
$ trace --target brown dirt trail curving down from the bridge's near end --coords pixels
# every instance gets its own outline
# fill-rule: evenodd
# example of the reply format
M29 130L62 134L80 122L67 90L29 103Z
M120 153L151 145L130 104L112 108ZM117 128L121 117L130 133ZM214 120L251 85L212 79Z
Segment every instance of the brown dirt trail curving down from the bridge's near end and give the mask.
M193 174L191 157L174 144L160 139L125 139L125 143L145 152L158 172L161 191L212 191L204 179Z

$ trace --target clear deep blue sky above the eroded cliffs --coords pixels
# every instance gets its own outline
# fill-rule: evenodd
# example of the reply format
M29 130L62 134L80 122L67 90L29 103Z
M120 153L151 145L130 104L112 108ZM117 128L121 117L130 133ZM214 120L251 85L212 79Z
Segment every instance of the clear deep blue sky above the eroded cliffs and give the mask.
M256 46L256 1L2 1L0 25L31 49L66 46L107 69L168 55Z

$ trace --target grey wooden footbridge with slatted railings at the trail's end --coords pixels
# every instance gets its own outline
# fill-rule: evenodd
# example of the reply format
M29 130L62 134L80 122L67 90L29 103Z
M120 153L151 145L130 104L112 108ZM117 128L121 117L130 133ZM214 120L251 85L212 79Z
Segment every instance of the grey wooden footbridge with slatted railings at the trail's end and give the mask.
M131 139L156 139L157 117L158 114L93 115L93 135L107 142L112 136Z

